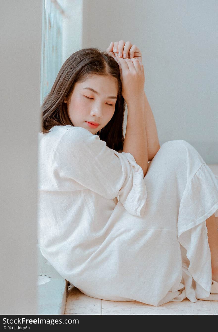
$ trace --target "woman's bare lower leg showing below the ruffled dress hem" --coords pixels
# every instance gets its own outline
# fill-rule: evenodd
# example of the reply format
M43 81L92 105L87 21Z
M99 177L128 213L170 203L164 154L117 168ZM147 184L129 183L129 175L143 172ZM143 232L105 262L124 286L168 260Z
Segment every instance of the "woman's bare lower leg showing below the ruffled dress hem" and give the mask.
M212 279L218 282L218 217L212 214L206 219L208 243L211 253Z

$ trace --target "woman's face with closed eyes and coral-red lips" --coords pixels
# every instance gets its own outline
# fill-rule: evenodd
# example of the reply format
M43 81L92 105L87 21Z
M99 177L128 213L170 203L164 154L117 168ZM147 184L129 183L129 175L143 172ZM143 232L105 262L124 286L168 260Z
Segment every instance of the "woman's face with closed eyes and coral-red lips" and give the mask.
M102 129L114 115L117 84L117 79L111 75L92 75L84 82L77 82L68 101L64 101L72 124L92 134Z

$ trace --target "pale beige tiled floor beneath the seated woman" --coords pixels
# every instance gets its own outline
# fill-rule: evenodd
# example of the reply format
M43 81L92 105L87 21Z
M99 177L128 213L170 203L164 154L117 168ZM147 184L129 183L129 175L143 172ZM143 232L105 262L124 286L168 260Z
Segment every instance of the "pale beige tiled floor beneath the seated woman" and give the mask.
M208 165L218 175L218 165ZM187 298L182 302L168 302L155 307L142 302L106 301L83 294L73 285L68 287L65 315L217 315L218 301L192 303Z

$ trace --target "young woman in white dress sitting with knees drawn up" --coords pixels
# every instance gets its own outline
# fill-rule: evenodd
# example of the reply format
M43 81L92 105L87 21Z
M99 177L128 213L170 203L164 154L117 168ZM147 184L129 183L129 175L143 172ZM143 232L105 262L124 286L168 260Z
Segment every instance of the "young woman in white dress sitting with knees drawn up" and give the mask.
M187 141L160 147L144 80L124 41L61 67L42 105L40 250L91 297L218 300L218 177Z

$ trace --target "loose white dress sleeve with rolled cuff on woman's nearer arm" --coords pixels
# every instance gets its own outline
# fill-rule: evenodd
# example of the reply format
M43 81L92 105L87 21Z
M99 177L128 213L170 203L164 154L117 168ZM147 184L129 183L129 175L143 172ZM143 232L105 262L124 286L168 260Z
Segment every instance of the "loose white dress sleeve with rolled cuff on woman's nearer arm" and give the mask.
M71 126L61 137L53 152L52 172L59 189L67 179L72 190L76 182L107 199L117 197L133 215L145 211L144 175L133 155L110 149L85 128Z

